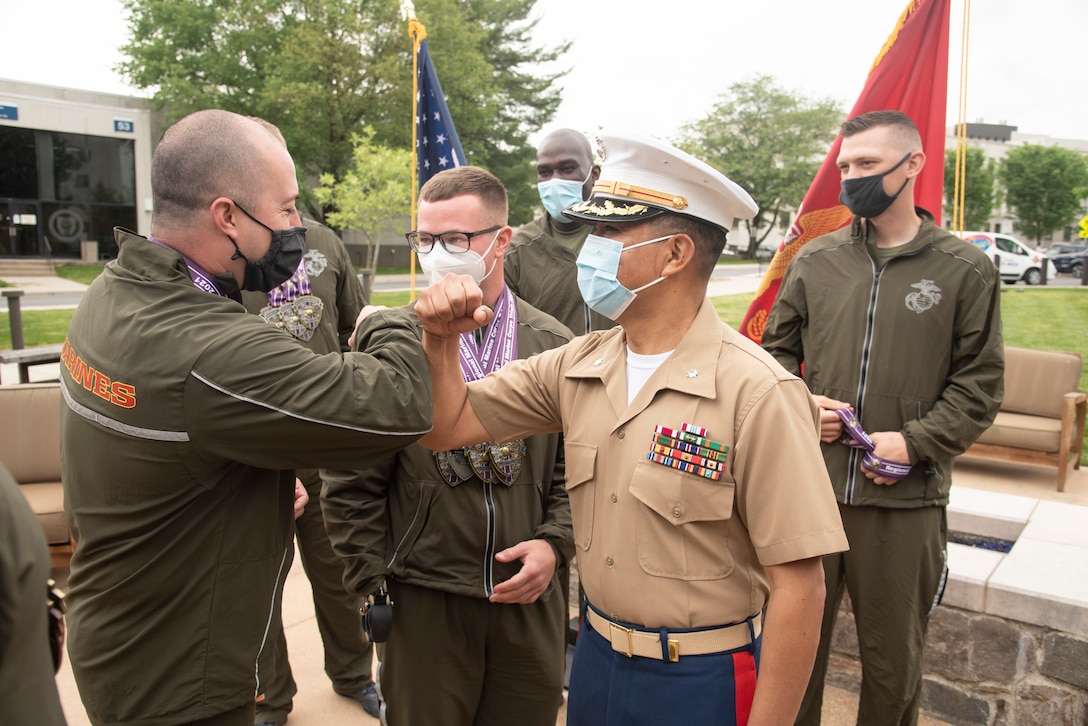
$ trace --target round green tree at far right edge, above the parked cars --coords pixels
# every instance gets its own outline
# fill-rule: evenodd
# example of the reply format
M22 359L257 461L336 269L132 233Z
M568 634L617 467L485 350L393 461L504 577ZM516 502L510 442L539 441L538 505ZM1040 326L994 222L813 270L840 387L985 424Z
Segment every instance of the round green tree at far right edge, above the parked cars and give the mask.
M1016 231L1037 245L1054 230L1075 224L1088 197L1088 159L1059 146L1010 149L998 176Z

